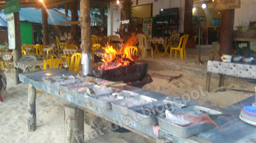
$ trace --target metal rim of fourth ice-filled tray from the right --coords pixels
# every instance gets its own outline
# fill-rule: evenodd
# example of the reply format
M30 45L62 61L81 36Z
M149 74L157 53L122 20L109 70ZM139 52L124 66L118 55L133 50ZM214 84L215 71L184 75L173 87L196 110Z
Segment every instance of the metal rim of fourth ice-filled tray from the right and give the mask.
M122 92L122 94L127 95L129 97L130 96L138 96L139 95L138 93L135 93L135 92L132 92L132 91L127 91L127 90L122 90L121 92ZM110 103L111 101L104 102L104 101L101 101L101 100L97 99L98 97L108 96L108 95L112 95L112 93L91 96L91 103L92 103L92 105L95 106L95 107L104 109L104 110L112 109L112 105Z

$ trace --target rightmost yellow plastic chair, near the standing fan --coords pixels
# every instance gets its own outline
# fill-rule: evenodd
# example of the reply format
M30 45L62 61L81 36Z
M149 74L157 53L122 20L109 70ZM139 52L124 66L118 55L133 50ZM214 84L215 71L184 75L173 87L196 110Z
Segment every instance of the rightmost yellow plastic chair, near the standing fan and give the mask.
M177 51L180 51L180 59L183 60L183 52L184 52L184 58L186 59L186 44L188 41L188 34L185 34L183 36L180 37L180 42L179 45L177 47L171 47L170 50L170 58L172 58L172 50L175 51L175 58L177 58Z

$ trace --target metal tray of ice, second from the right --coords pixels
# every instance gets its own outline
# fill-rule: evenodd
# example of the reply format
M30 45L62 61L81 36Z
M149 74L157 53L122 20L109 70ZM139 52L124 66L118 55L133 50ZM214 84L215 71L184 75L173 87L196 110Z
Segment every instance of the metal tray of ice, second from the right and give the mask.
M130 117L136 117L142 125L157 125L156 115L164 113L165 110L174 111L186 107L186 105L170 100L160 100L153 103L130 107Z

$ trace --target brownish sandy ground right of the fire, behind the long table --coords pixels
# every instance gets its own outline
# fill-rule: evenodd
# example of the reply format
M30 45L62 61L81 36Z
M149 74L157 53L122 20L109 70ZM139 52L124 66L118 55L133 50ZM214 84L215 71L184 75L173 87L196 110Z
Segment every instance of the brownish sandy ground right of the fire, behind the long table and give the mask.
M202 88L205 87L205 78L196 78L192 75L185 73L184 71L171 71L171 70L162 70L162 71L148 71L148 73L160 73L163 75L175 76L182 74L182 76L178 79L173 79L170 83L168 83L167 79L161 79L158 77L152 77L153 82L146 84L143 89L148 89L151 91L156 91L168 95L179 96L182 97L185 93L190 95L190 99L195 101L206 103L209 105L219 106L219 107L227 107L234 103L237 103L243 99L246 99L252 93L244 93L237 91L222 91L222 92L214 92L218 89L218 79L211 78L210 83L210 92L204 91L206 94L203 96L199 86ZM236 77L229 77L224 80L224 87L229 87L233 89L242 89L248 91L255 91L255 85L253 83L249 83L247 79L241 79ZM199 97L197 98L194 90L199 92ZM191 95L191 92L193 95ZM255 95L255 93L253 93ZM187 96L184 96L187 97Z

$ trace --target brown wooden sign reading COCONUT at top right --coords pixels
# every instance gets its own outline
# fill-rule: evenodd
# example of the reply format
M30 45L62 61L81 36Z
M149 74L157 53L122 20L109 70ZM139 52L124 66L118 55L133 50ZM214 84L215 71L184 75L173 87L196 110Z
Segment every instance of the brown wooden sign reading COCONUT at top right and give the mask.
M240 0L214 0L214 9L215 10L230 10L235 8L240 8Z

